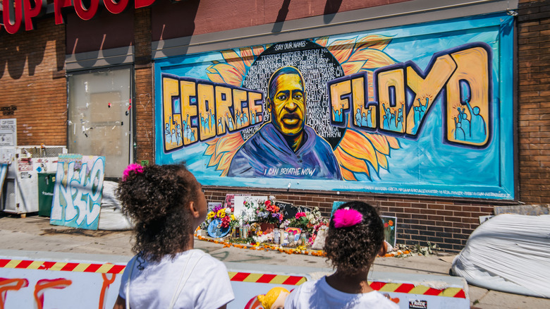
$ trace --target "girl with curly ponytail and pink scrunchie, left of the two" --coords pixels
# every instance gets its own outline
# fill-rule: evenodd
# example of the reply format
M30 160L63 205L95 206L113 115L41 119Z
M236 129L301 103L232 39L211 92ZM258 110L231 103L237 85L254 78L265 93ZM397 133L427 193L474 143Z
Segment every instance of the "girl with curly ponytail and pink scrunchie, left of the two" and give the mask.
M126 265L114 309L226 308L233 289L225 265L193 249L207 202L183 164L130 164L116 190L135 224L137 253Z

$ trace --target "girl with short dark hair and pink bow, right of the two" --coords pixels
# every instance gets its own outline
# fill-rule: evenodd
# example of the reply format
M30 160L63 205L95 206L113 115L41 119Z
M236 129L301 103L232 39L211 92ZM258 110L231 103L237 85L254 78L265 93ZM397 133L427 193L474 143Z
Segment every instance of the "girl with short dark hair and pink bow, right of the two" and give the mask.
M377 255L386 254L384 224L365 202L346 202L334 212L324 244L336 272L307 281L286 298L286 309L399 308L367 283Z

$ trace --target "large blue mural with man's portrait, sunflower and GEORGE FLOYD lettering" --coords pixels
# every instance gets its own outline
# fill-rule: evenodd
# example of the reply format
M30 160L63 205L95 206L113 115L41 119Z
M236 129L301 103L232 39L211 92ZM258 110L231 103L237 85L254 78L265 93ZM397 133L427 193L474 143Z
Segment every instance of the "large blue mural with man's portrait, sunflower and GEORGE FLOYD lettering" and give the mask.
M506 14L159 59L157 162L206 185L513 199Z

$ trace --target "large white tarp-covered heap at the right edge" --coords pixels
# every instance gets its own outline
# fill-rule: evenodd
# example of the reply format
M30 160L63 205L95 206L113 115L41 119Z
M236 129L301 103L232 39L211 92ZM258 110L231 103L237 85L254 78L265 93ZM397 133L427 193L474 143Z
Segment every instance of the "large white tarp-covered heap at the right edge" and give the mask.
M453 273L496 291L550 298L550 214L499 214L477 227Z

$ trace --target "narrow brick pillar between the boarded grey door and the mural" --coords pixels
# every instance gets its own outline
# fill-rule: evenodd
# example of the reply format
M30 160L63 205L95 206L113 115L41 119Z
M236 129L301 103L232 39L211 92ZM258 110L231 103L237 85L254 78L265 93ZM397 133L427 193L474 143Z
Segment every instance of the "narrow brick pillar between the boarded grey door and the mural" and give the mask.
M134 11L135 42L135 148L137 162L154 162L153 71L151 62L151 10Z

